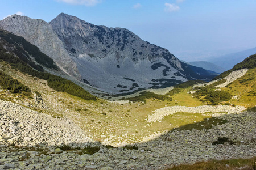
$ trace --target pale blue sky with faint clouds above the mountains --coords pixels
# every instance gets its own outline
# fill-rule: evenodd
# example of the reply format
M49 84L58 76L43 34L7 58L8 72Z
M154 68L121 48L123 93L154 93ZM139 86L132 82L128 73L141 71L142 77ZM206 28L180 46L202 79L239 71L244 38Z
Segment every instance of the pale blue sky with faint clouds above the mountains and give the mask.
M20 14L51 21L61 12L127 28L185 61L256 47L255 0L0 0L0 19Z

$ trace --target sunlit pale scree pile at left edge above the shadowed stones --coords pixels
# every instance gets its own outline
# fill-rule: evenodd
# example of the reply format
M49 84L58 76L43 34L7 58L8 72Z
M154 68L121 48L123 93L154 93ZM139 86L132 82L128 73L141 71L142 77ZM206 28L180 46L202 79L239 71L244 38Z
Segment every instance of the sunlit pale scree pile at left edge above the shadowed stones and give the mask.
M0 125L2 145L11 143L19 146L38 143L67 145L79 141L79 143L92 141L71 120L54 118L9 101L0 100Z

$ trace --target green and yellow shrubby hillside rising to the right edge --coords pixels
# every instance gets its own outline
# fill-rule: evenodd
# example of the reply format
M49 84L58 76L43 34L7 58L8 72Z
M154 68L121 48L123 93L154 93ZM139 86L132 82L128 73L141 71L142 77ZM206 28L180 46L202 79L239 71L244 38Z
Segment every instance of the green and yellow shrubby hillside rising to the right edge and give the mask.
M255 67L256 67L256 54L250 57L247 57L243 62L238 63L233 69L225 71L221 75L214 78L214 80L218 80L215 83L208 84L205 86L197 86L192 88L193 85L199 83L205 83L201 80L189 80L187 82L177 84L174 86L174 89L168 92L165 95L156 95L152 92L142 92L139 96L127 98L130 101L143 101L146 103L146 99L159 99L159 100L168 100L173 101L173 97L176 94L180 94L185 89L186 91L193 90L195 91L193 97L199 99L202 103L207 105L218 105L218 104L226 104L226 105L236 105L239 104L236 99L232 99L232 96L240 96L242 100L245 101L246 104L250 104L251 101L255 100L253 97L255 96ZM250 69L248 73L244 76L235 80L234 82L228 84L224 88L218 88L217 86L226 82L224 79L228 76L232 71L240 70L240 69ZM237 88L236 88L237 87ZM246 97L247 96L247 97ZM125 98L123 98L125 99ZM183 99L184 100L184 99ZM232 101L232 103L230 103Z

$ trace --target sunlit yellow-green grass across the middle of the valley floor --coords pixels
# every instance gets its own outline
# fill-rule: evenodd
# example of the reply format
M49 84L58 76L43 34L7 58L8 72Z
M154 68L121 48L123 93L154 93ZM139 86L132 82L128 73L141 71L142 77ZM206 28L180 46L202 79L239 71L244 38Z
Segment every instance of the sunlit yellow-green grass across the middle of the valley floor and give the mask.
M166 106L184 105L195 107L204 105L199 99L187 93L191 88L185 88L182 92L171 96L172 101L148 99L146 104L142 102L110 103L104 99L87 101L65 92L52 90L47 86L46 80L24 75L19 71L10 69L7 65L4 67L5 71L10 75L19 79L26 86L30 87L32 91L38 91L42 95L44 104L48 108L38 108L39 112L50 114L54 117L70 118L85 131L86 135L98 141L104 141L111 134L115 136L113 137L113 142L121 143L127 141L133 143L141 141L148 135L162 133L173 128L177 129L180 126L183 129L206 129L206 126L209 124L205 120L207 118L211 120L207 114L204 116L203 114L180 112L175 113L173 116L166 116L162 122L149 124L146 121L148 115L153 113L152 111ZM181 119L183 120L181 121ZM197 125L197 123L193 124L193 121L202 122ZM124 136L123 134L126 135ZM118 137L122 138L118 139Z

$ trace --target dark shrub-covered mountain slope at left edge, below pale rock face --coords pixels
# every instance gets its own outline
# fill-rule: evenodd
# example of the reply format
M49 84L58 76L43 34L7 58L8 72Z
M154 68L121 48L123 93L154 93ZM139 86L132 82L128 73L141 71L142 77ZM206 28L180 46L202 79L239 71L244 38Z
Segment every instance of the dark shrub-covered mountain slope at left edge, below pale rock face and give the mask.
M12 69L19 70L20 73L28 74L35 79L46 80L47 85L53 90L67 92L67 94L78 96L85 100L97 100L96 96L91 95L84 88L78 86L71 80L63 78L62 76L65 73L59 69L53 59L42 53L35 45L30 44L23 37L16 36L13 33L1 29L0 61L9 64ZM62 76L57 76L56 74ZM20 86L20 83L14 82L14 80L6 83L8 80L10 78L7 78L3 82L8 90L16 92L22 91L25 88L26 92L30 92L30 90Z

